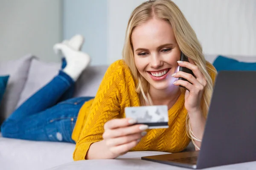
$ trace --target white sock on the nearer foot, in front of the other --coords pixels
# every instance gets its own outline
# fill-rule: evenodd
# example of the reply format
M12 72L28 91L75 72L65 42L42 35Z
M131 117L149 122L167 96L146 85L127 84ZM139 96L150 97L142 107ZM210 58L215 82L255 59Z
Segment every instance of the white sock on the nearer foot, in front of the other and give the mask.
M76 81L82 71L89 65L90 56L84 52L76 51L62 43L55 44L54 49L60 50L67 61L67 65L63 69L63 72Z

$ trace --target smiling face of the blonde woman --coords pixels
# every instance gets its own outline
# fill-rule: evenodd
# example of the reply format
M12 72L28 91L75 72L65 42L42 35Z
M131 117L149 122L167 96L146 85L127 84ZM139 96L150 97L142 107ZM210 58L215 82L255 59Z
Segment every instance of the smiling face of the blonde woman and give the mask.
M134 28L131 35L134 61L150 88L166 90L176 81L171 75L178 71L180 48L170 23L151 19Z

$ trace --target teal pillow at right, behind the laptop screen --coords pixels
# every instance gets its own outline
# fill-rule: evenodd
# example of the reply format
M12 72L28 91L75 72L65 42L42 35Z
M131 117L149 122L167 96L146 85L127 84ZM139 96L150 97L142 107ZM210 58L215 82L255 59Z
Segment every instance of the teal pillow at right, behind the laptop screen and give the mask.
M212 64L219 71L256 71L256 62L239 62L224 56L218 56Z

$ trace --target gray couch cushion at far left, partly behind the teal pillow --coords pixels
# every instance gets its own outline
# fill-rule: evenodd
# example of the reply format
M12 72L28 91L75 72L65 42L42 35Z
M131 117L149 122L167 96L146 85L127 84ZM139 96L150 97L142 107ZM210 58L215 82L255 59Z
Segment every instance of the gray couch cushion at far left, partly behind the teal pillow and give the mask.
M28 54L20 59L0 63L0 75L10 75L0 105L0 118L6 119L14 110L24 88L32 58ZM0 122L1 123L1 122Z

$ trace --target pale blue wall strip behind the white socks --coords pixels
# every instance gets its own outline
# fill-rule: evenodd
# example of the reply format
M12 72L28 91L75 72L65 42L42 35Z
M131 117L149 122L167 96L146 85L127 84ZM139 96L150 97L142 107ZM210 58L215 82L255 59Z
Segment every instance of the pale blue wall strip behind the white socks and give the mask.
M92 58L91 65L107 63L107 0L64 0L63 37L85 37L82 51Z

